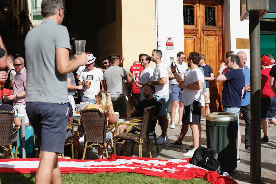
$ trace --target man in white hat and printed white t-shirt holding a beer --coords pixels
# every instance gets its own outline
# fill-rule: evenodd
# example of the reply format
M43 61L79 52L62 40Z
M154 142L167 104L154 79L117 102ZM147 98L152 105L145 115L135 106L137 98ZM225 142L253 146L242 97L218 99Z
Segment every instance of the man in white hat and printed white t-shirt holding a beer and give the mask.
M100 90L104 90L103 72L94 67L96 57L92 54L87 54L87 58L87 68L82 70L79 75L79 85L83 85L82 102L88 100L88 102L96 103L95 95L98 94ZM102 85L102 89L100 85Z

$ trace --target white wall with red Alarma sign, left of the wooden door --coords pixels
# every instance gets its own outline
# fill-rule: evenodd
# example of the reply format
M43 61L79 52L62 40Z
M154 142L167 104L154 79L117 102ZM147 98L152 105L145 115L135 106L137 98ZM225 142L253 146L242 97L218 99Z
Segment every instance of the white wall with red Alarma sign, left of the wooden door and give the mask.
M156 0L158 18L158 49L163 53L162 61L167 66L170 57L177 60L176 54L184 52L183 1ZM166 50L166 37L173 37L174 49Z

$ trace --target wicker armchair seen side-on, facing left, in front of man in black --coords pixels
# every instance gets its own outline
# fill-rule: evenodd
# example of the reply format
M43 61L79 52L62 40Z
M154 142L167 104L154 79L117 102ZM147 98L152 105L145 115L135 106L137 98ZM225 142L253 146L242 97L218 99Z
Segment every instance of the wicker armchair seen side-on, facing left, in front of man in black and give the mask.
M137 143L138 146L139 146L139 157L143 157L142 143L147 143L148 154L149 154L149 157L151 158L151 150L150 150L150 145L149 145L148 134L149 134L149 131L150 131L151 122L152 122L152 119L153 119L153 116L154 116L155 109L156 109L156 107L145 108L142 120L133 119L129 123L126 123L126 122L118 123L116 125L115 132L117 132L117 128L120 125L128 125L128 128L127 128L126 132L116 136L115 144L122 143L122 142L118 141L120 139L130 140L130 141L132 141L132 143ZM134 123L134 122L136 122L136 123ZM139 128L138 125L141 125L141 128ZM130 133L129 132L130 126L134 126L138 130L140 130L139 133ZM124 155L125 155L127 143L128 142L125 141ZM115 149L116 149L116 146L114 146L114 153L116 153ZM132 149L133 149L133 146L132 146Z

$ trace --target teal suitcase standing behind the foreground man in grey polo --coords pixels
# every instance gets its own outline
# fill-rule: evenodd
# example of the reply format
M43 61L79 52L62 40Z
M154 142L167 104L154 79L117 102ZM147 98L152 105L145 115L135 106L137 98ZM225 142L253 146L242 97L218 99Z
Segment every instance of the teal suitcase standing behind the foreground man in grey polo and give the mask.
M20 129L18 131L19 133L19 139L17 141L17 154L21 155L21 145L20 145ZM34 133L33 133L33 127L32 126L25 126L25 150L26 155L29 155L31 157L34 156ZM15 154L15 147L13 147L13 153Z

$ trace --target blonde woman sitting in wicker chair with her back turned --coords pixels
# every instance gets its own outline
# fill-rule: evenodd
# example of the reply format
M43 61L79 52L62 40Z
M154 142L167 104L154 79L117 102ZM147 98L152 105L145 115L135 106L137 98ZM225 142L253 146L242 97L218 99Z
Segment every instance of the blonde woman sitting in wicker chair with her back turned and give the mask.
M110 95L106 91L99 91L95 96L96 103L87 105L84 109L99 109L102 114L107 114L107 122L109 125L117 123L117 116L114 113L113 105L111 102ZM111 139L111 131L106 132L105 140ZM105 156L102 155L103 148L98 148L97 158L106 159Z

